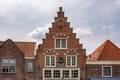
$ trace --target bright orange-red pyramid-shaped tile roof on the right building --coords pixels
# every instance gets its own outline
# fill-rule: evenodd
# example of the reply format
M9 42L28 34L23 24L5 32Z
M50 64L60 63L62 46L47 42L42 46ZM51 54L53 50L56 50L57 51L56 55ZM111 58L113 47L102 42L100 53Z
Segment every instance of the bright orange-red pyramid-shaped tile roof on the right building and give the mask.
M120 49L110 40L106 40L87 60L120 60Z

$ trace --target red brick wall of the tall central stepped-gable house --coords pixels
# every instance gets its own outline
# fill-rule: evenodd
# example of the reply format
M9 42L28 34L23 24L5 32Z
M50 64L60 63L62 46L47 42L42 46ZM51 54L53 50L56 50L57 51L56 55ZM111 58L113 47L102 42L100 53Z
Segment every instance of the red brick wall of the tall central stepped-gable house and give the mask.
M57 21L61 19L61 21ZM62 20L64 19L64 20ZM62 29L59 29L59 26ZM55 49L55 39L66 38L67 49ZM42 79L42 69L45 67L45 55L56 55L56 68L60 68L57 64L59 57L64 60L62 68L66 68L66 55L77 56L77 67L80 69L80 77L82 80L86 80L86 52L82 48L82 44L79 44L79 39L76 38L76 33L73 33L73 28L70 28L70 23L67 22L67 17L64 17L64 12L58 12L58 16L55 17L55 22L52 23L52 28L49 28L49 33L46 33L43 44L38 46L37 50L37 75Z

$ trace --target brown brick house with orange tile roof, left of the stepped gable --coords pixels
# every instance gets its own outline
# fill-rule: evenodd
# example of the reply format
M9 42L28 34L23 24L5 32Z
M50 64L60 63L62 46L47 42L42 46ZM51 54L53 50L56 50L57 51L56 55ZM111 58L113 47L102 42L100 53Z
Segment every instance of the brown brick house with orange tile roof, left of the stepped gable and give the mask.
M35 42L0 41L0 80L34 80Z

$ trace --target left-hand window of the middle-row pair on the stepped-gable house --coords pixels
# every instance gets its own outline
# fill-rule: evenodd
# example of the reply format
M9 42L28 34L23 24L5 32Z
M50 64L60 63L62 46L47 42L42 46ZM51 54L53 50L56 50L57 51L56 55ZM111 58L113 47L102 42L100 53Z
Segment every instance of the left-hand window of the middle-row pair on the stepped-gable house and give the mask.
M55 67L55 56L47 55L45 57L46 67Z

